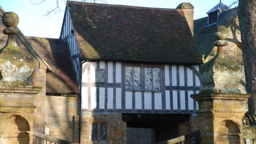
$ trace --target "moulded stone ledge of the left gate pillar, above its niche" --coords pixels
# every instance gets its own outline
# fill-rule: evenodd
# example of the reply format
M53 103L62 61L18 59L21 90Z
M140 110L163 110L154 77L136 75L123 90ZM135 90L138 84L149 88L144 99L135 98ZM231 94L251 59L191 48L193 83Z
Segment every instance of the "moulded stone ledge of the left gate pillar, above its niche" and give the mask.
M0 86L0 92L38 94L41 90L41 87Z

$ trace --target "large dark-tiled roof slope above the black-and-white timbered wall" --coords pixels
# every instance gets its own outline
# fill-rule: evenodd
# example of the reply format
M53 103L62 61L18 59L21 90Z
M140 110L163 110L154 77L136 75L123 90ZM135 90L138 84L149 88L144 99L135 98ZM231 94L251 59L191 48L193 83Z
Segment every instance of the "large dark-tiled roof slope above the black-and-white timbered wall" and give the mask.
M96 28L81 2L67 1L82 58L202 63L181 9L85 4Z

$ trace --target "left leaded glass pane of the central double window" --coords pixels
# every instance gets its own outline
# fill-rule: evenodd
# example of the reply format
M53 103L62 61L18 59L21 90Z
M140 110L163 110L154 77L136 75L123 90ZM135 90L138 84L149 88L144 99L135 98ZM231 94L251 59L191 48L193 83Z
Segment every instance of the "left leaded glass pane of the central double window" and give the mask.
M140 67L125 67L125 88L126 90L141 90Z

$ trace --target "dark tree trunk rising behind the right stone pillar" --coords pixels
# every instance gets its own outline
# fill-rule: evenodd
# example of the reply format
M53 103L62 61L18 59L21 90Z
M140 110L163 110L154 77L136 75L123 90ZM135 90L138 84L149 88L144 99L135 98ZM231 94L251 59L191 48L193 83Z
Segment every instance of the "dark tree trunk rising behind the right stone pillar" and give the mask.
M256 0L239 0L238 18L244 52L246 92L250 115L256 115Z

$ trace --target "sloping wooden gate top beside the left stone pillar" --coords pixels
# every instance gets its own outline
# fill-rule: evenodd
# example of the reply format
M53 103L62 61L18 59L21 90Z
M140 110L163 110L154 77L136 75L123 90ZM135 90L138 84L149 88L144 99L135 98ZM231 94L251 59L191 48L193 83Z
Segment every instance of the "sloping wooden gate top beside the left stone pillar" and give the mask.
M77 144L33 131L33 144Z

